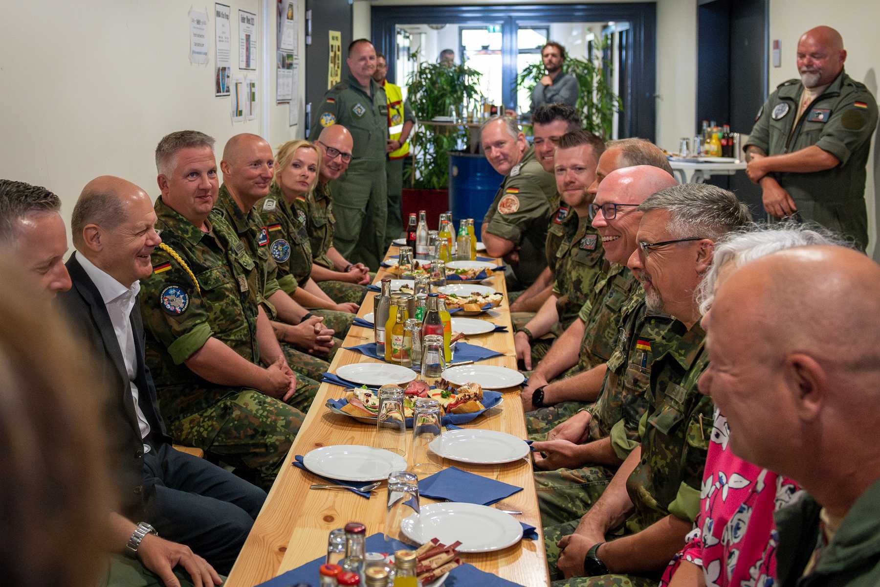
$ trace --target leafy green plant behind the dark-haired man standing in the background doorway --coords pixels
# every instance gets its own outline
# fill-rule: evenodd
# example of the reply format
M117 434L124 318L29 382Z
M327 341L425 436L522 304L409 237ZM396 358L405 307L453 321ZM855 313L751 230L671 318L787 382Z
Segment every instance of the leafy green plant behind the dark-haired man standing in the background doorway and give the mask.
M623 111L623 102L608 84L613 73L612 65L601 61L604 46L597 45L591 59L567 57L562 62L562 72L572 74L577 80L580 92L575 108L581 114L583 128L608 140L612 138L614 113ZM524 87L531 93L545 74L543 62L532 63L517 76L517 87Z

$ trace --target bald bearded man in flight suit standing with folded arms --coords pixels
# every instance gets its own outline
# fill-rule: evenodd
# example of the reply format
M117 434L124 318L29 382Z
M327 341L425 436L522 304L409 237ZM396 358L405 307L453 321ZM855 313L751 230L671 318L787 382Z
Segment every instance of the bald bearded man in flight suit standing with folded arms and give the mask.
M800 79L789 79L761 106L745 143L749 179L773 218L794 216L868 246L865 165L877 105L847 76L840 33L810 29L797 42Z

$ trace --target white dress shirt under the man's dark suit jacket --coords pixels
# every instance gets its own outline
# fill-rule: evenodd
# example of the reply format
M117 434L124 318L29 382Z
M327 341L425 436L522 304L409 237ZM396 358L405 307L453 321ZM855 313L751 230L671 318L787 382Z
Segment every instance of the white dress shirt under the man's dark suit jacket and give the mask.
M113 323L116 341L119 342L122 358L125 360L125 370L128 372L128 385L131 386L131 397L135 400L137 425L141 429L141 438L146 438L150 434L150 422L147 422L146 417L143 415L143 410L138 405L137 385L135 384L135 378L137 377L135 333L131 327L130 319L131 309L135 307L137 293L141 290L141 282L134 282L130 288L126 288L113 277L106 274L106 272L95 267L94 263L86 259L84 254L77 254L77 260L84 268L85 273L92 279L92 283L98 288L101 298L104 300L106 311L110 314L110 321ZM143 444L143 451L149 452L150 445Z

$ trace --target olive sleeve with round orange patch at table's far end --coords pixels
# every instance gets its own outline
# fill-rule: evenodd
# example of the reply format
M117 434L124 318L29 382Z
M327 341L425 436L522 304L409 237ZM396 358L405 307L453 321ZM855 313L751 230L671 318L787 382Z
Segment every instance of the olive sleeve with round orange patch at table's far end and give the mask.
M538 184L526 178L512 178L504 187L498 209L489 219L486 231L518 244L524 233L537 223L546 225L549 215L550 202Z

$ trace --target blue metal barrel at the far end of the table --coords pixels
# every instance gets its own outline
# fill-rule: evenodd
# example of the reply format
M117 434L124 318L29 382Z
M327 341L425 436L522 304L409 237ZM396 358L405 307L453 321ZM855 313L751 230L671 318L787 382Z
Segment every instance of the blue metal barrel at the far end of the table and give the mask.
M483 216L503 179L483 155L450 151L449 205L457 229L458 220L473 218L473 231L480 238Z

